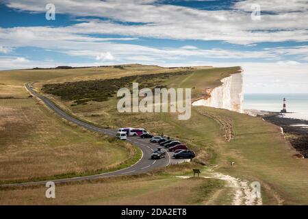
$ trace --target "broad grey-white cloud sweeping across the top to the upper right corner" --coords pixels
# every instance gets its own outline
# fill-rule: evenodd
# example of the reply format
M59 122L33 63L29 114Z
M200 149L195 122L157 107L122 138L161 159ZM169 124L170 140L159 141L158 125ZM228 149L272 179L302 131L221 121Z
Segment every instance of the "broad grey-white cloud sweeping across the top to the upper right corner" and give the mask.
M307 41L307 1L258 1L261 10L279 14L262 14L261 21L251 20L251 3L246 0L235 4L234 10L197 10L178 5L153 4L155 1L63 1L54 0L57 13L74 16L107 17L115 21L144 23L126 25L110 21L86 21L64 30L76 34L123 34L155 38L224 40L231 43L251 44L286 40ZM44 12L49 0L10 0L7 5L18 10ZM303 8L303 5L306 6ZM276 7L276 8L275 8ZM291 12L286 11L292 7ZM244 12L245 10L246 12ZM288 13L287 13L288 12ZM258 31L256 31L258 30ZM272 31L276 30L276 31Z

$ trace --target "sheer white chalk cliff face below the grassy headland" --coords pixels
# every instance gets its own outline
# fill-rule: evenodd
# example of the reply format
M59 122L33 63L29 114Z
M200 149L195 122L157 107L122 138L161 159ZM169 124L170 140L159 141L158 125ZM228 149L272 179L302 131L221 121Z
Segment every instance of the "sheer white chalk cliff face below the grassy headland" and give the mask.
M240 73L225 77L221 82L221 86L208 88L207 96L194 101L192 105L222 108L242 113L244 101L242 70Z

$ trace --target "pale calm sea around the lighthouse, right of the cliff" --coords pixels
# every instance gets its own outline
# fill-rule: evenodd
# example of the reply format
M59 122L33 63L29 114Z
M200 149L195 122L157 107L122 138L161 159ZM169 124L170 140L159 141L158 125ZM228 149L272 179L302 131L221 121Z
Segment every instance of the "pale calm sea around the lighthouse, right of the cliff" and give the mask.
M283 98L287 103L286 118L308 120L308 94L244 94L244 110L280 112Z

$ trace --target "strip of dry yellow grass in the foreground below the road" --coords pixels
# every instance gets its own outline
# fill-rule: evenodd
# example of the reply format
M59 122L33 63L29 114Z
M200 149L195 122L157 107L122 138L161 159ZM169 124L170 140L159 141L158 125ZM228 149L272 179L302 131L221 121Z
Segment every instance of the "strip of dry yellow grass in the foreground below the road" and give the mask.
M50 199L44 187L0 190L0 205L192 205L207 201L222 186L222 181L204 178L105 179L58 185Z

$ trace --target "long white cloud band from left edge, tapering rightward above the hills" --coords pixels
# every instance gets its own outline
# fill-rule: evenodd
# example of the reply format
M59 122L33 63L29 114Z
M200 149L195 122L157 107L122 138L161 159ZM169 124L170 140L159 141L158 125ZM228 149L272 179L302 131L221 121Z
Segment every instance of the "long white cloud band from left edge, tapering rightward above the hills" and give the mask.
M153 48L124 42L108 42L105 38L79 34L83 30L73 27L14 27L0 28L0 40L5 47L39 47L74 56L92 57L97 60L132 60L145 56L155 61L178 60L187 57L201 58L267 58L279 55L266 51L236 51L227 49L198 49L190 45L180 48ZM24 38L23 36L28 36ZM136 59L135 62L140 60Z

